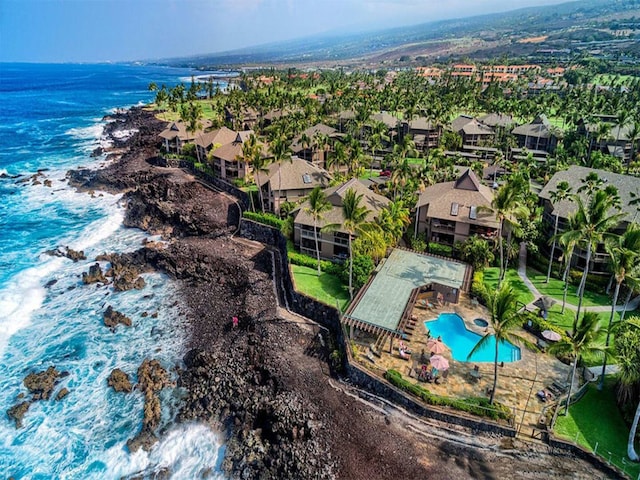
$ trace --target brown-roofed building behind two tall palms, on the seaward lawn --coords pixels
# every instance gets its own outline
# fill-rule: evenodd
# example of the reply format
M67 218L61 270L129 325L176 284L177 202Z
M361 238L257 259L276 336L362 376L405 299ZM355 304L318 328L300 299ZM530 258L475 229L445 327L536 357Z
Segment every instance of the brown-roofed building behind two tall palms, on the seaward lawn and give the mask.
M337 187L324 190L327 200L332 205L331 210L322 215L322 219L317 224L317 235L320 248L320 256L325 259L344 260L349 255L349 236L344 230L337 229L332 232L323 232L321 229L325 225L342 224L342 202L345 194L349 190L354 190L356 194L362 195L361 205L365 206L369 213L367 221L374 221L380 210L389 204L389 199L369 190L357 178L352 178L346 183ZM316 244L314 234L313 217L305 211L309 203L304 202L295 214L293 221L293 232L295 245L302 253L315 256Z

